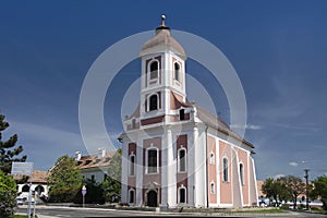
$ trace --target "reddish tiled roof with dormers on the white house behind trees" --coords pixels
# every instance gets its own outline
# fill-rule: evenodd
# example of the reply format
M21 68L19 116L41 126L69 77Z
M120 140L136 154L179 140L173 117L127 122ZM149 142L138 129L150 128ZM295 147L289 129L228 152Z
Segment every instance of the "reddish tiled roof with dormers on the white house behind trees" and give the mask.
M114 153L106 153L104 157L100 157L98 155L82 156L81 159L77 160L77 168L89 169L98 167L108 167L113 155Z

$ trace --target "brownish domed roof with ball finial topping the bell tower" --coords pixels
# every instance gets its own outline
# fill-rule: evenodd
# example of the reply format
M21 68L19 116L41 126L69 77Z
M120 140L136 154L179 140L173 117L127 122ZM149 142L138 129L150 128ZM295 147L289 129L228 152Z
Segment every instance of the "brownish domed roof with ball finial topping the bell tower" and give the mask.
M161 17L161 25L156 28L156 36L143 45L142 51L160 46L170 47L174 49L175 55L186 58L183 47L170 35L170 28L165 25L165 16Z

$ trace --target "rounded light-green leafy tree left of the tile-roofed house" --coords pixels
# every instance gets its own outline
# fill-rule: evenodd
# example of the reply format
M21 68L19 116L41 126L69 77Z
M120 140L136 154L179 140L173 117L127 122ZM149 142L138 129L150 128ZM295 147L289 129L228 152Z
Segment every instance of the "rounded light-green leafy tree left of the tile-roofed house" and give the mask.
M50 170L48 184L50 186L49 201L58 203L73 202L82 186L81 170L76 168L73 157L64 155L55 164Z

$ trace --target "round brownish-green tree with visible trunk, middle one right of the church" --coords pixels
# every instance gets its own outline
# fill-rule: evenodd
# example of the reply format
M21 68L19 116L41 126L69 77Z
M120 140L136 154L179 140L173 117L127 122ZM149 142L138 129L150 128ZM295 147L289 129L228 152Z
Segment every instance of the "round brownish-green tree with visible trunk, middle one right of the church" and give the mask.
M293 208L295 209L298 196L305 193L305 183L301 178L294 175L282 177L278 181L281 185L284 185L286 191L292 196L294 202Z

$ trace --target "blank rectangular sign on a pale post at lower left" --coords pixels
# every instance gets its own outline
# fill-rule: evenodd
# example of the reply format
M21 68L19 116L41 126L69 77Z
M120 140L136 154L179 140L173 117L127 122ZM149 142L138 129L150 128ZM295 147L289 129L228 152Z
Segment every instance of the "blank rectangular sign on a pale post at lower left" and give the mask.
M33 179L33 165L34 162L12 162L11 174L24 174L29 175L29 191L28 191L28 206L27 216L31 218L31 202L32 202L32 179ZM35 198L34 198L35 202ZM35 205L33 217L35 217Z

